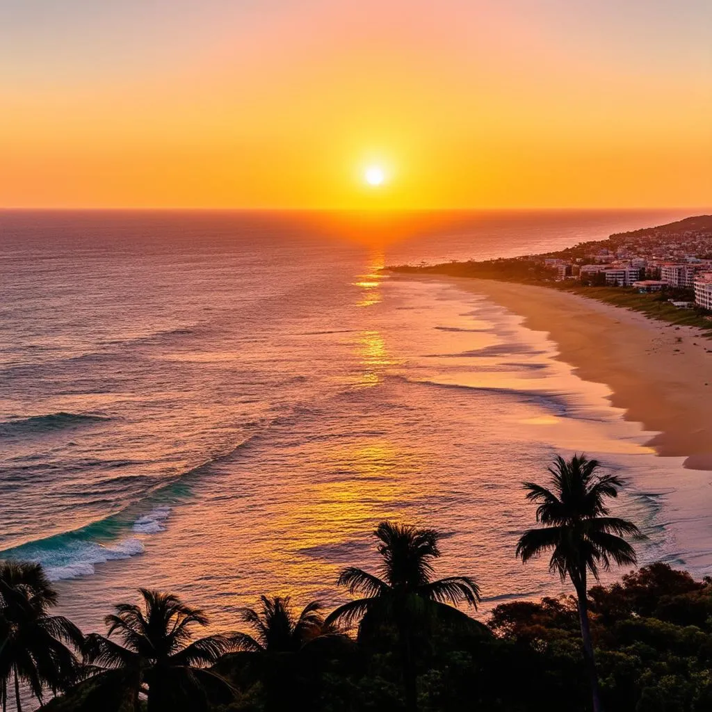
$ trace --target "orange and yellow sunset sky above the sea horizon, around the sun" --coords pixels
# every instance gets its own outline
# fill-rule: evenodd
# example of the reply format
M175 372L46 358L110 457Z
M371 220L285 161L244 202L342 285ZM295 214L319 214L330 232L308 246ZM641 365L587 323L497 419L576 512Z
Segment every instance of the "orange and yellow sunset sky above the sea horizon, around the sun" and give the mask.
M0 206L710 206L711 28L709 0L0 0Z

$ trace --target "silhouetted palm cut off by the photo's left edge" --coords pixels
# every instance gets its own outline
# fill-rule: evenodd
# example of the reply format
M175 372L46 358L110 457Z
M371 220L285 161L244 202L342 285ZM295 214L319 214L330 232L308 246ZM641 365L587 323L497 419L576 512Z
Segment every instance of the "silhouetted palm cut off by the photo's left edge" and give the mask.
M22 712L21 681L42 703L43 690L65 689L78 671L78 661L66 644L80 646L83 635L63 616L51 616L57 593L41 565L0 562L0 699L7 706L10 679L15 704Z

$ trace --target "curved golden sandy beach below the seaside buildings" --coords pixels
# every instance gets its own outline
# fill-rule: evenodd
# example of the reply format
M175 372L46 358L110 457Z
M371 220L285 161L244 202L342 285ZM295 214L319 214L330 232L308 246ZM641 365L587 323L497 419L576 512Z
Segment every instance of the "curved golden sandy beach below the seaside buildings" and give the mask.
M712 470L712 340L691 327L651 320L545 287L442 278L486 295L548 333L558 358L587 381L606 384L628 420L657 431L649 442L687 468Z

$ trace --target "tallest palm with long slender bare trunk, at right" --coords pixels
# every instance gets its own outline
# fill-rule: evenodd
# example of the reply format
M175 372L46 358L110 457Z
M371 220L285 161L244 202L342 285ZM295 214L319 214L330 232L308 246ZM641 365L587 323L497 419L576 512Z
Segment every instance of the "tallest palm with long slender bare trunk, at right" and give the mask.
M549 570L562 581L569 577L576 590L594 712L601 712L602 706L588 620L587 573L598 579L599 570L608 570L611 562L634 565L635 551L622 537L642 537L633 523L609 516L605 501L616 497L623 483L617 476L598 474L599 467L583 454L569 461L557 456L548 468L548 487L525 482L527 499L538 503L536 519L543 527L528 530L517 544L523 562L550 551Z

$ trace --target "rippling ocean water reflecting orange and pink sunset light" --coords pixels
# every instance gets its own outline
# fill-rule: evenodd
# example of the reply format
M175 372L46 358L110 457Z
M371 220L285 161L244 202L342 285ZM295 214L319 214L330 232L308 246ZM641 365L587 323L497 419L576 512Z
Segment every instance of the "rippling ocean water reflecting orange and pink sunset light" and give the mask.
M261 594L340 602L392 518L446 532L439 571L486 612L565 590L515 560L520 483L583 450L626 478L642 561L703 572L666 511L681 462L606 387L500 306L384 272L684 216L0 212L0 557L86 630L138 586L234 629Z

